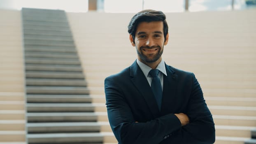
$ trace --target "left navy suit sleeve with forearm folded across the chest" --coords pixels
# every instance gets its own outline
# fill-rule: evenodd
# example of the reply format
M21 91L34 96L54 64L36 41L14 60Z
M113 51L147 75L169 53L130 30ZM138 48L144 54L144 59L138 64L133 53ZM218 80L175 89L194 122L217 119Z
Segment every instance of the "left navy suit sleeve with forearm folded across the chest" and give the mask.
M135 123L133 114L119 84L113 77L105 79L105 95L109 123L119 144L159 144L181 128L174 114L145 123Z

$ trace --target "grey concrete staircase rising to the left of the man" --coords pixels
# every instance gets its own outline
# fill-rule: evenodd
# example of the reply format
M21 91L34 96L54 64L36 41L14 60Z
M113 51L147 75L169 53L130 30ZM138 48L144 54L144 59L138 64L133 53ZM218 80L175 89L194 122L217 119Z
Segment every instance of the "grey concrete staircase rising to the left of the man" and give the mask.
M61 10L22 9L28 144L100 144L98 115Z

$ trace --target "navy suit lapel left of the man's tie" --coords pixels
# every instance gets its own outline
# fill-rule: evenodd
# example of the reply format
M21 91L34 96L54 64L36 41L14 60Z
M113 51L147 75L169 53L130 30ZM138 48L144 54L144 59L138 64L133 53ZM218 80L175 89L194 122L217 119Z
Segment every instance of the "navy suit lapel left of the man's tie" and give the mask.
M140 91L144 100L147 102L147 105L149 106L153 116L158 117L160 115L160 111L158 109L156 99L152 93L146 77L144 76L140 67L137 65L136 61L130 67L130 77L131 81L133 81L133 84L137 87L138 91Z

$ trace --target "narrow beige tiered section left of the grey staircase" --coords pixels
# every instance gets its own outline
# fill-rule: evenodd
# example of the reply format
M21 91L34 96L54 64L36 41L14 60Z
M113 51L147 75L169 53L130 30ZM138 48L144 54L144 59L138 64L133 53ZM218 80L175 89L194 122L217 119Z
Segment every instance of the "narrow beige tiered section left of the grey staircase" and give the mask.
M0 10L0 142L25 142L21 12Z

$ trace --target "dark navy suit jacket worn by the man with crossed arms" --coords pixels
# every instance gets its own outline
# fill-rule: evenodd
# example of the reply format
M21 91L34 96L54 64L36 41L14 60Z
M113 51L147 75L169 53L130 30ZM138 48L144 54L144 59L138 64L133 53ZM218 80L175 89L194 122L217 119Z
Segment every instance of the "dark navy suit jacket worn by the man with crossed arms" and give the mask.
M214 143L212 114L195 75L165 68L161 111L136 61L105 79L107 114L119 144ZM182 126L177 113L187 114L190 123Z

